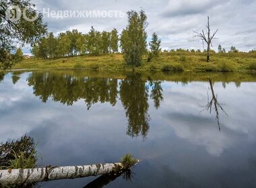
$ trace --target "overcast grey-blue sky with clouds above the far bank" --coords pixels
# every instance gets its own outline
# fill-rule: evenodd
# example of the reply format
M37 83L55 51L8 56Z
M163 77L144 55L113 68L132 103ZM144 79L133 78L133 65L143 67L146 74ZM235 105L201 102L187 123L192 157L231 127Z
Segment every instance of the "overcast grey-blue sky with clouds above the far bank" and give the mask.
M206 29L207 16L210 16L212 32L218 29L213 49L221 44L226 50L235 46L240 51L256 49L256 1L255 0L34 0L39 11L121 11L141 8L148 15L148 40L156 32L162 40L162 49L200 49L202 42L194 37L194 32ZM91 26L98 31L119 32L127 25L127 17L65 17L57 19L44 13L49 32L58 34L77 29L87 33ZM204 46L205 47L205 46Z

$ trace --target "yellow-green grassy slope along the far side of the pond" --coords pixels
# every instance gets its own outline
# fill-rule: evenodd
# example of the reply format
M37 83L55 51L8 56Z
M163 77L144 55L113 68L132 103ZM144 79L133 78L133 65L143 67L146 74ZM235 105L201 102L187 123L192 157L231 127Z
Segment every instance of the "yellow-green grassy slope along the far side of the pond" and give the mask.
M256 72L256 54L248 53L220 53L212 54L211 62L205 62L205 53L199 52L166 52L160 57L147 62L143 58L141 66L135 68L138 73L143 72ZM61 59L28 59L15 64L13 69L88 69L101 71L132 71L133 68L125 64L122 54L108 54L103 56L76 56Z

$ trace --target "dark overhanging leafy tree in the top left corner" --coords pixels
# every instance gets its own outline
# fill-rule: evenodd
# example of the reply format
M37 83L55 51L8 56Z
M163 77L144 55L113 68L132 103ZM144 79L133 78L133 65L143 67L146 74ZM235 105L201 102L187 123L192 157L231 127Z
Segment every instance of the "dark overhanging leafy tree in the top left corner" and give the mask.
M26 16L34 21L27 21L24 16L17 21L9 19L5 11L16 5L21 10L26 8ZM12 9L13 10L13 9ZM18 11L10 11L11 17L17 17ZM0 2L0 68L11 66L11 50L18 41L21 44L35 44L46 33L46 24L42 21L42 13L37 13L35 6L30 0L1 0Z

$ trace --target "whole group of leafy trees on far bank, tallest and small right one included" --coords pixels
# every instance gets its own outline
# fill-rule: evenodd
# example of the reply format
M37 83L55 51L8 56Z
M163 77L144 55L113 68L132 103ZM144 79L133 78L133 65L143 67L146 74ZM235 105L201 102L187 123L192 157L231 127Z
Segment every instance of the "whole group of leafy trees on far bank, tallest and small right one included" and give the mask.
M98 32L93 27L88 34L72 30L55 37L53 33L50 33L33 46L32 53L38 58L115 53L119 51L120 40L125 62L132 66L139 66L143 54L148 52L147 16L143 10L139 12L129 11L127 15L128 25L121 33L120 38L116 29L111 32ZM160 44L161 40L154 33L152 41L149 43L150 53L148 60L159 55L161 51Z

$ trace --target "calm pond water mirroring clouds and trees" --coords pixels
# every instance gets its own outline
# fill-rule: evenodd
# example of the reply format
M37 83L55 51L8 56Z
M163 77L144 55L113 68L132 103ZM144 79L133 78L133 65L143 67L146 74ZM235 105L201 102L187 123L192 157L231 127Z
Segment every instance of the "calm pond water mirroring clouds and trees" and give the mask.
M106 187L256 187L254 81L8 73L0 83L0 142L32 136L41 167L118 162L127 152L141 159L131 181L118 177ZM96 178L42 187L84 187Z

